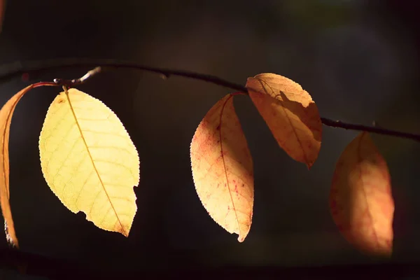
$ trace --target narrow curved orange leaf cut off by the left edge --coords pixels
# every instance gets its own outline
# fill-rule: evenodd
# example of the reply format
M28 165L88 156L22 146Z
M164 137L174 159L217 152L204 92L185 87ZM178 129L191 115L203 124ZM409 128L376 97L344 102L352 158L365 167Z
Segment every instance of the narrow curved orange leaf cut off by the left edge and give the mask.
M13 111L16 105L23 97L23 95L34 87L41 85L48 85L46 83L36 83L25 87L20 92L11 97L3 108L0 110L0 205L1 213L4 217L4 229L6 231L6 238L8 242L16 247L19 247L18 238L16 237L15 226L13 225L12 212L10 210L10 190L9 190L9 155L8 143L10 135L10 122L12 120Z

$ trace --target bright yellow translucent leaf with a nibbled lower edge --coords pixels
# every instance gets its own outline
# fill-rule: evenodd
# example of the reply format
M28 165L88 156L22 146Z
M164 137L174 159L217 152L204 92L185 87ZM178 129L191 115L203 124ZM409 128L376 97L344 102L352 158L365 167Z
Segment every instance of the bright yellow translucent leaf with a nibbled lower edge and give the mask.
M139 155L111 109L84 92L61 92L39 137L48 186L73 213L128 236L137 211Z

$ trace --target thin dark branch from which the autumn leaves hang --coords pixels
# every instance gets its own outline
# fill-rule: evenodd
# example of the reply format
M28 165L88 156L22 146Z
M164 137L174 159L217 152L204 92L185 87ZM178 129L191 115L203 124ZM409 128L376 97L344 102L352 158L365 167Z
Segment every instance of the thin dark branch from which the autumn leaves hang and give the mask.
M214 85L221 85L223 87L228 87L231 90L237 90L248 94L248 90L244 85L239 85L237 83L232 83L228 80L223 80L217 76L205 75L202 73L195 73L191 71L181 71L174 69L164 69L157 67L149 67L138 64L136 62L125 62L115 59L49 59L44 61L35 61L35 62L15 62L13 64L5 64L1 66L1 69L5 71L0 71L0 82L4 80L9 80L15 76L22 74L27 74L28 72L40 72L40 71L51 71L52 69L64 69L64 68L74 68L74 67L97 67L89 72L82 78L75 80L64 80L64 79L55 79L54 82L57 85L64 85L71 87L71 85L79 85L84 83L88 78L93 76L96 73L101 71L101 67L106 68L123 68L123 69L136 69L141 71L148 71L152 73L159 73L164 78L169 78L170 76L180 76L183 78L192 78L195 80L202 80L207 83L212 83ZM98 67L101 66L101 67ZM344 128L345 130L360 130L365 132L372 132L376 134L384 134L393 137L400 137L406 139L412 139L414 141L420 142L419 134L412 134L406 132L398 132L395 130L386 130L380 127L370 127L366 125L356 125L351 123L343 123L339 120L330 120L328 118L321 118L323 125L329 127L339 127Z

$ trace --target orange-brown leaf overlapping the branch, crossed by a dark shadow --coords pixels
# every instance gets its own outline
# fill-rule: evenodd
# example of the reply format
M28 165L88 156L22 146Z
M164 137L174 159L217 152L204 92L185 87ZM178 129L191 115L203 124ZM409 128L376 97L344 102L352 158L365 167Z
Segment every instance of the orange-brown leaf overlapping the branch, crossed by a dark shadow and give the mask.
M246 87L279 146L310 168L321 148L322 123L309 93L273 73L248 78Z

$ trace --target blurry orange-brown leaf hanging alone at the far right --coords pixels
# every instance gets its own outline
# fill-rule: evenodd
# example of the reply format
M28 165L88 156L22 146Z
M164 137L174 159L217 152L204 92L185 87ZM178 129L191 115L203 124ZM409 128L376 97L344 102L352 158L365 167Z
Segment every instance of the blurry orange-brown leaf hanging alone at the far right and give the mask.
M339 231L358 250L391 255L391 178L367 132L353 139L339 157L332 178L330 209Z

